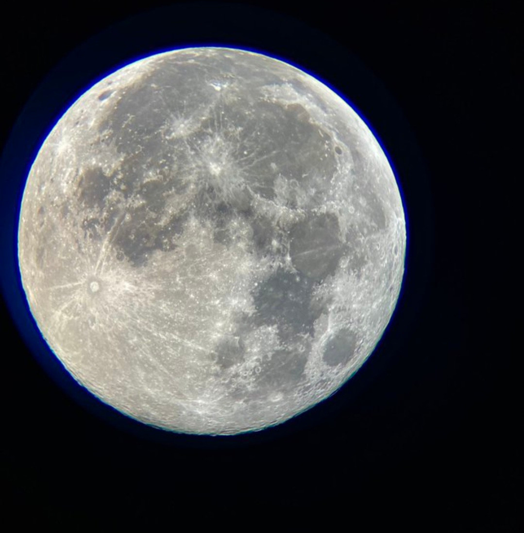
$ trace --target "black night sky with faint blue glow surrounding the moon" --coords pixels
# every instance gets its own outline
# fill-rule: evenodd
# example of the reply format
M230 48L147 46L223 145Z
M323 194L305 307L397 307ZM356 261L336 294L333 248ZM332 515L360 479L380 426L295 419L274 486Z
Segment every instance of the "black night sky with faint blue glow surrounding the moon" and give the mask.
M509 342L520 311L520 241L509 238L522 174L517 4L314 4L41 3L3 15L3 520L99 531L522 527ZM197 44L265 51L344 93L388 151L409 222L404 289L374 355L317 408L241 438L144 432L52 364L46 372L15 276L21 180L61 112L131 59Z

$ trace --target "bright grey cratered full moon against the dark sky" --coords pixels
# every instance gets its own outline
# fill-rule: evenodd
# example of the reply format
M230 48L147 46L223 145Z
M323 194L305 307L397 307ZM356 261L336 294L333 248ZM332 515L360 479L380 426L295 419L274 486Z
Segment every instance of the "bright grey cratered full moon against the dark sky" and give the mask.
M398 300L406 224L365 122L260 53L152 55L96 83L23 193L31 313L77 382L144 424L236 434L333 394Z

